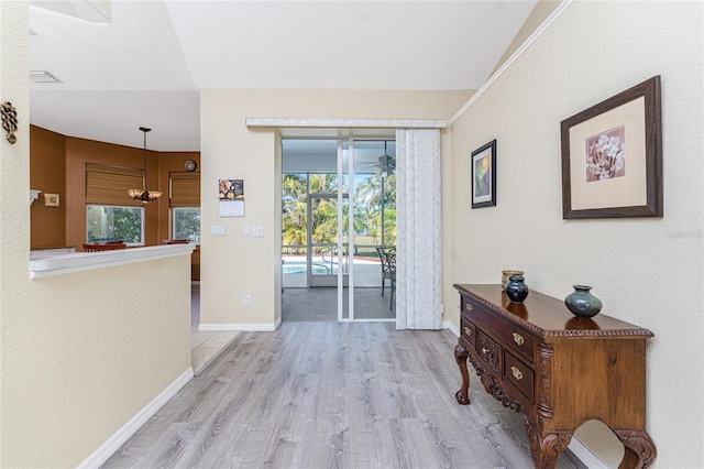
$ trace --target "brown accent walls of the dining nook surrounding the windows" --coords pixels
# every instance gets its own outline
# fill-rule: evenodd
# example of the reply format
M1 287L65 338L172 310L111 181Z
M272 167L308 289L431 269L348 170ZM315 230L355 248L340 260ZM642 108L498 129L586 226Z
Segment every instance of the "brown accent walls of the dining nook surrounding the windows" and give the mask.
M32 206L32 249L74 246L80 251L86 242L86 163L142 168L143 149L65 137L34 126L30 144L30 186L42 190ZM185 172L186 160L200 166L199 152L147 151L146 186L164 194L144 207L145 246L170 238L168 173ZM46 192L61 196L61 207L44 207ZM193 280L200 280L200 247L193 255Z

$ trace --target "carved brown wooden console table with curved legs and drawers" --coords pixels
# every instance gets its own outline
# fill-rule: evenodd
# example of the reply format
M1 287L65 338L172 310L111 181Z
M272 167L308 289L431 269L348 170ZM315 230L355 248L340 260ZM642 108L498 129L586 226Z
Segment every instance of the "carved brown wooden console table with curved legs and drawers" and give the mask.
M578 318L537 292L518 304L501 285L453 286L461 298L460 404L470 403L469 358L486 392L524 413L536 468L554 468L574 430L593 418L624 444L620 468L650 466L657 455L646 432L650 330L603 314Z

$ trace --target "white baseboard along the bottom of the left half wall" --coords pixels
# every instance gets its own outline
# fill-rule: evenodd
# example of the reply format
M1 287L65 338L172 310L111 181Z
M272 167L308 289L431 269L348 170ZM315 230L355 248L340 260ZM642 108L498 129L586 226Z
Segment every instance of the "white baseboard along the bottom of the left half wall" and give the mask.
M194 369L188 368L184 373L170 383L164 391L152 400L144 408L136 413L135 416L122 426L106 443L100 445L92 455L78 465L78 468L98 468L117 451L142 425L146 423L156 411L162 408L188 381L194 378Z

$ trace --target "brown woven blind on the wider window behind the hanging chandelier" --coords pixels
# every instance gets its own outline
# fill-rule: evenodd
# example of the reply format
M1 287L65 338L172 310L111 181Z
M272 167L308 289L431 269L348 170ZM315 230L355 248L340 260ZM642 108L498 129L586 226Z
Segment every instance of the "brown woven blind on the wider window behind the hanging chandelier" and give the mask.
M86 204L142 206L128 189L144 187L144 170L86 163Z

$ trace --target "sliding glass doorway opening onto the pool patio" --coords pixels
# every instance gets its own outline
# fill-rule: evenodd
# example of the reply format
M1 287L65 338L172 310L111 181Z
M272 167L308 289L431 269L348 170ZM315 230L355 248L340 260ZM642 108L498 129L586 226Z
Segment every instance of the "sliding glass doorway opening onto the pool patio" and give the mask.
M395 150L393 139L282 140L283 320L395 320L377 249L396 243Z

